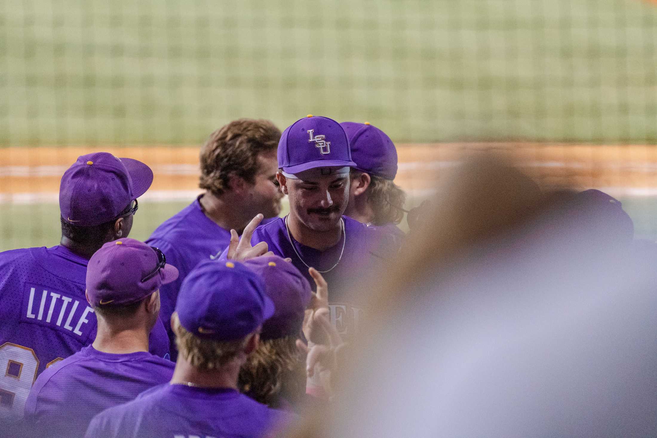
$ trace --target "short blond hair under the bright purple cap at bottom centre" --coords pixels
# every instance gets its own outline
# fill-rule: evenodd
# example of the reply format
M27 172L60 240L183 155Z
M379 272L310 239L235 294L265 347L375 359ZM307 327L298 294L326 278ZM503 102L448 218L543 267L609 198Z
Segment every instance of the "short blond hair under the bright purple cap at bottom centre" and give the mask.
M175 315L175 314L174 314ZM175 315L173 330L178 354L187 359L194 368L217 370L232 361L246 346L247 338L235 341L212 341L201 339L188 332Z

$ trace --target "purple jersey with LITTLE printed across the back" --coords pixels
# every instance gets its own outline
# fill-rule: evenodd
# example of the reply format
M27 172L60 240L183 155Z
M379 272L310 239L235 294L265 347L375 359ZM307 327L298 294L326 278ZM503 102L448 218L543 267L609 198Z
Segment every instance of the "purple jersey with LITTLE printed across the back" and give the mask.
M64 246L0 253L0 406L12 414L22 416L43 370L96 337L96 316L85 298L87 262ZM149 342L151 353L168 355L159 319Z

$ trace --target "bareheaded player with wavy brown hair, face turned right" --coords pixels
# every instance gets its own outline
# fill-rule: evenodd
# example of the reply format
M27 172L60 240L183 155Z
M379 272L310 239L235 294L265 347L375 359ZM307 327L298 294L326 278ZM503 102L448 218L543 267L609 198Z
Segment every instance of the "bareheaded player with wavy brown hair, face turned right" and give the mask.
M275 185L279 139L281 131L268 120L240 119L217 129L200 152L199 186L204 194L164 221L146 241L166 253L180 272L160 291L173 359L170 318L185 276L198 262L219 256L231 240L231 229L241 233L256 214L269 218L281 212L283 194Z

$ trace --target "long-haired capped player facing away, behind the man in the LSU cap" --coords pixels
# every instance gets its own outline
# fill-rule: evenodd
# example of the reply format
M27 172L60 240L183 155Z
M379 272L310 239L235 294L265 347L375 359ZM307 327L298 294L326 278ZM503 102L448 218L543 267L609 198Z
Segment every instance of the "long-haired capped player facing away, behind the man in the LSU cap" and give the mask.
M401 238L397 227L404 215L406 194L393 180L397 175L397 150L390 137L370 123L345 121L340 126L347 133L351 159L349 202L344 214L380 227Z

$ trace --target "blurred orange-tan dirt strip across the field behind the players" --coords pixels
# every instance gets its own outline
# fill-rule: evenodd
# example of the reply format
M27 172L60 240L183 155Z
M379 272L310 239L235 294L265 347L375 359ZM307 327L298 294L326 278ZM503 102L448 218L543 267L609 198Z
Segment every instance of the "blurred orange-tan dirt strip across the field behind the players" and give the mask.
M0 149L0 196L55 194L62 173L79 155L106 150L141 160L152 167L151 191L194 191L198 182L198 146L66 147ZM396 183L411 192L436 186L445 169L464 156L494 151L514 160L539 181L581 187L657 188L657 146L531 143L399 144Z

